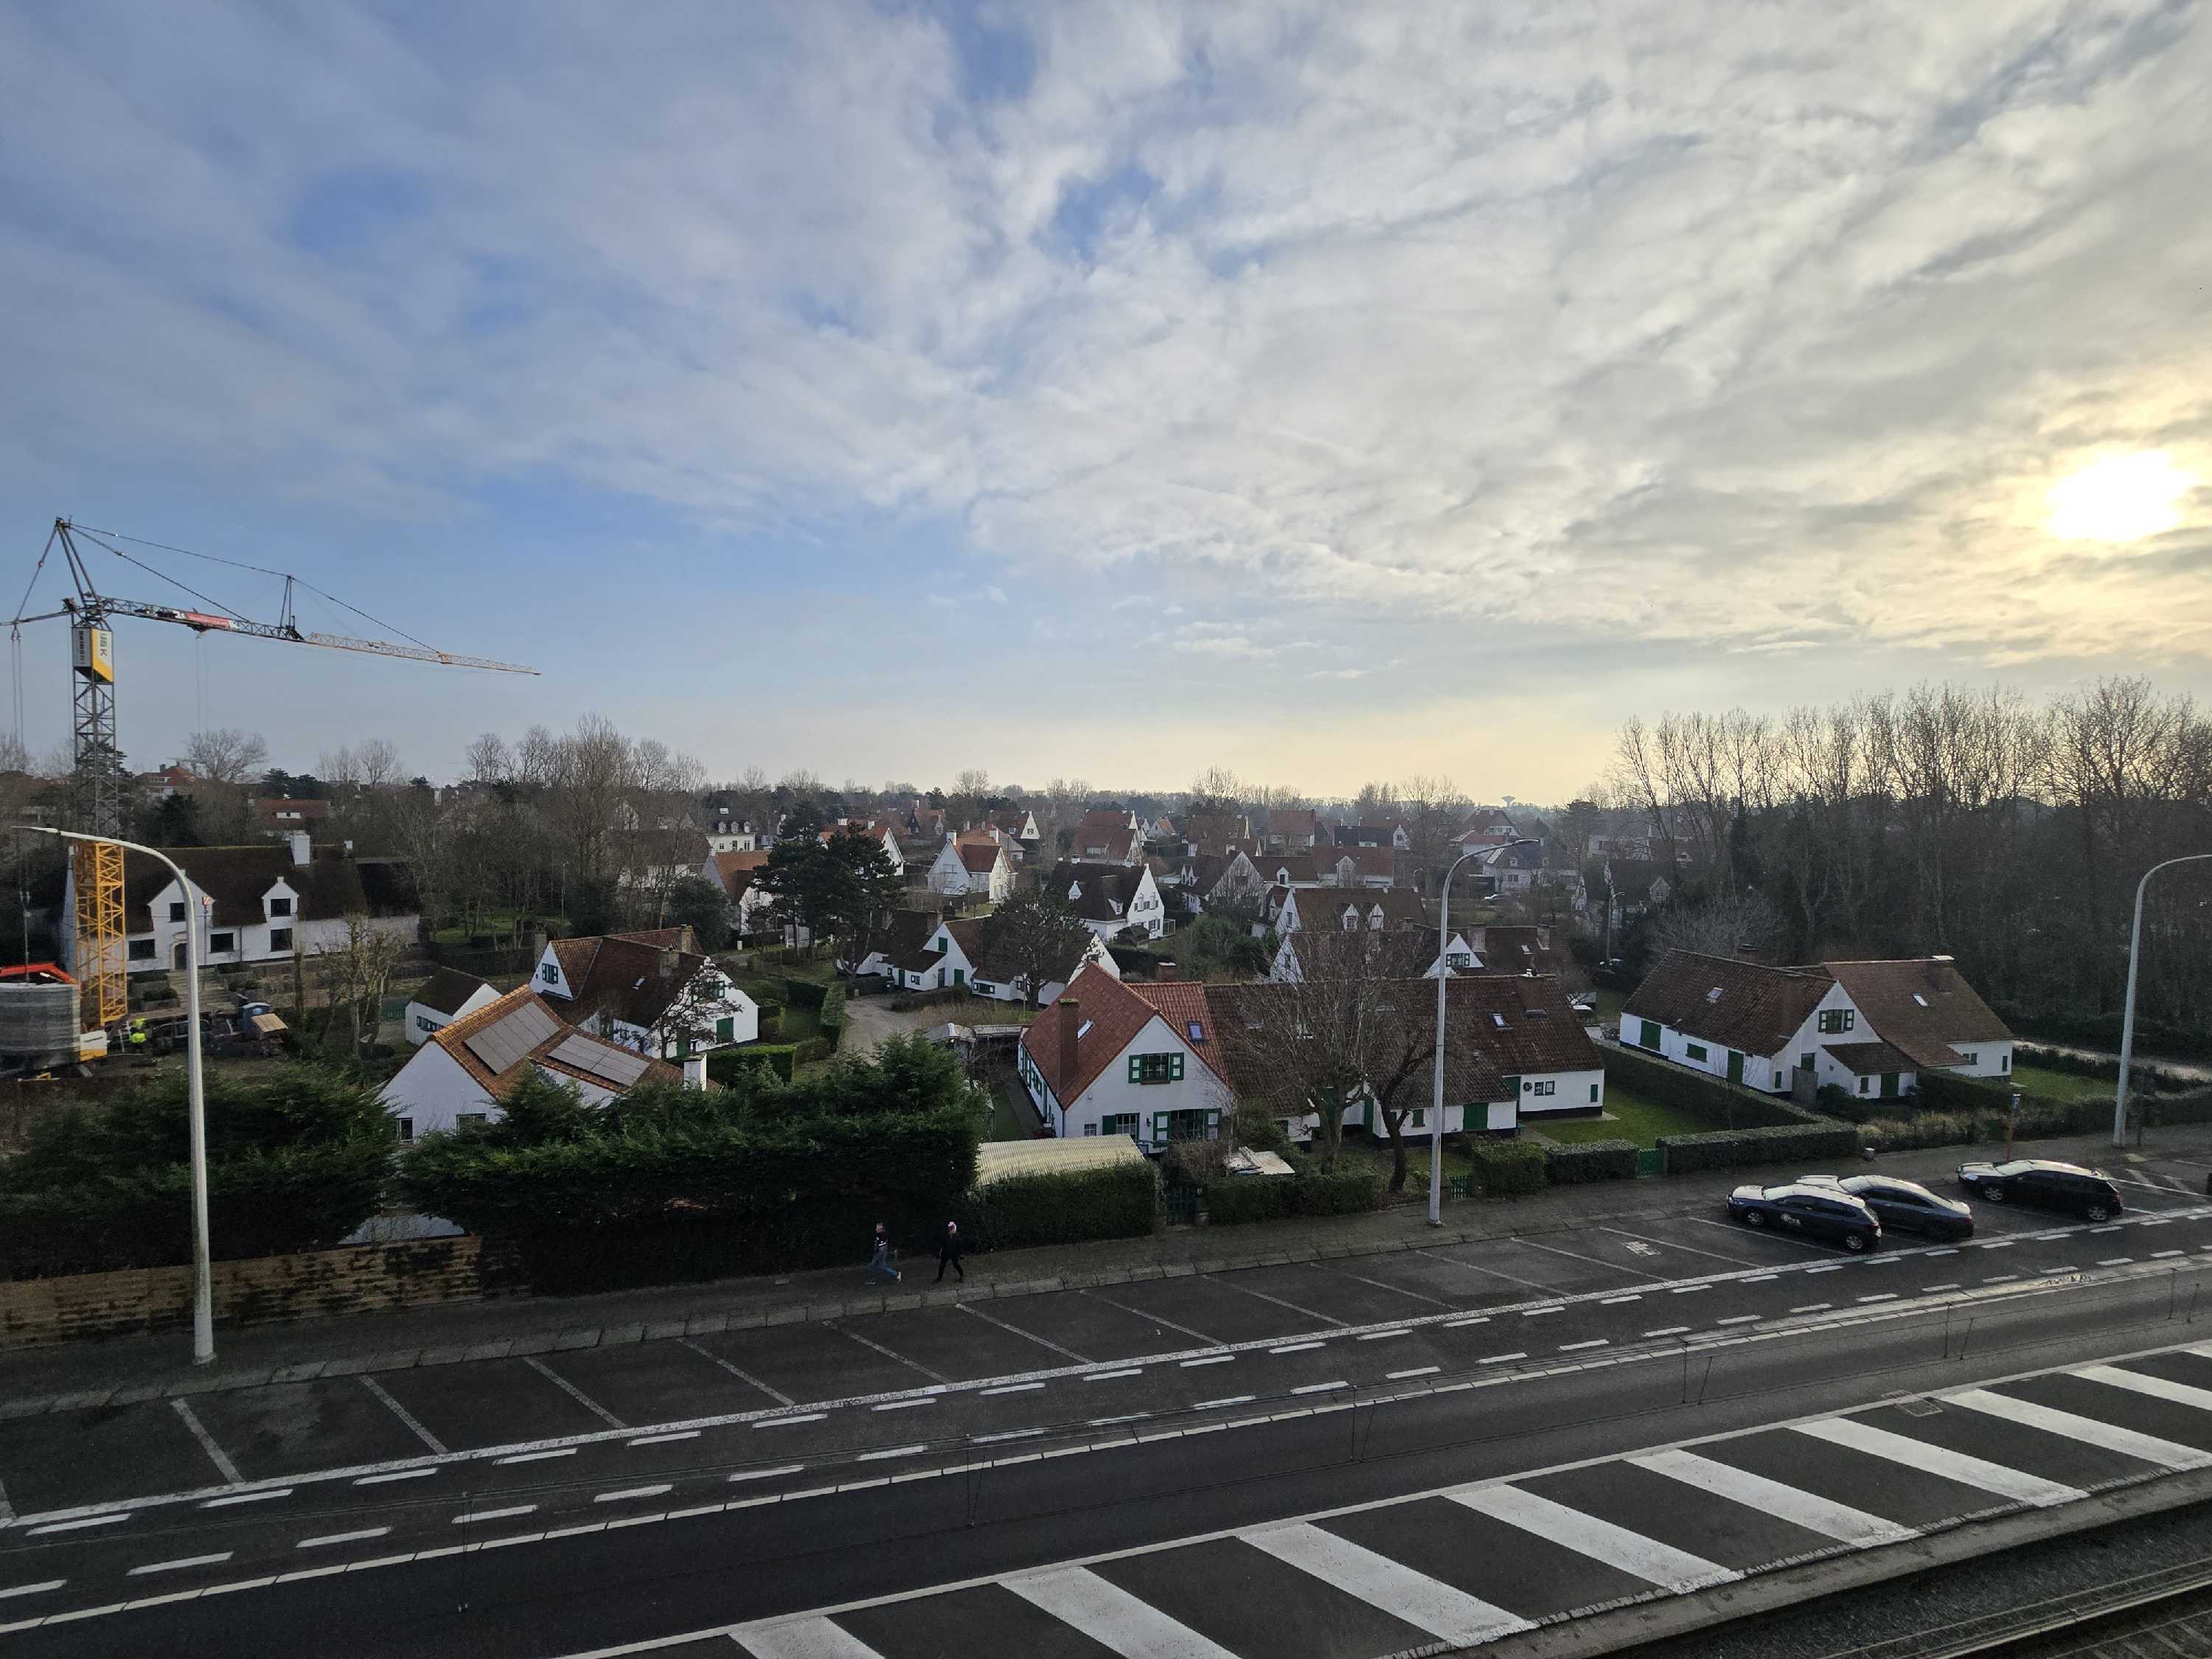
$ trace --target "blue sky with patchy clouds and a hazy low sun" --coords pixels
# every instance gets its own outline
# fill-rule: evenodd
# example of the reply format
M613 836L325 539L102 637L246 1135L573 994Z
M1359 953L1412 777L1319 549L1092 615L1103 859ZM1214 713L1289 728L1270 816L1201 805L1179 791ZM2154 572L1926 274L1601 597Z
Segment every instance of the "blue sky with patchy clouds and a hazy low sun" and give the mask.
M144 765L1557 801L1630 714L2203 697L2208 84L2154 0L0 0L0 586L69 515L540 668L122 622Z

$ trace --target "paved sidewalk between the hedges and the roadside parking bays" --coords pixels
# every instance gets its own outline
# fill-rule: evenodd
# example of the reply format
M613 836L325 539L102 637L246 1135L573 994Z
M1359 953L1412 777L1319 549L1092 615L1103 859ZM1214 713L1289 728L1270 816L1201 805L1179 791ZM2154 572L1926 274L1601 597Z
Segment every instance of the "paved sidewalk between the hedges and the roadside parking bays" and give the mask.
M2020 1146L2020 1155L2104 1164L2115 1175L2128 1166L2101 1135ZM2152 1159L2177 1157L2212 1164L2212 1126L2159 1130L2143 1148ZM1858 1166L1949 1183L1958 1164L2002 1157L2004 1146L1938 1146L1891 1152ZM1402 1203L1374 1214L1274 1221L1250 1228L1177 1228L1148 1239L1106 1239L1040 1250L1006 1250L967 1259L967 1283L936 1285L936 1259L914 1254L900 1285L869 1290L863 1250L849 1267L821 1267L774 1279L723 1279L706 1285L606 1292L597 1296L509 1296L445 1303L389 1314L354 1314L290 1325L219 1329L217 1360L190 1363L190 1334L124 1336L0 1354L0 1418L97 1405L128 1405L175 1394L305 1383L319 1376L398 1371L416 1365L453 1365L518 1354L546 1354L608 1343L650 1343L677 1336L849 1318L900 1307L1031 1296L1055 1290L1126 1285L1133 1279L1228 1272L1292 1261L1383 1254L1447 1243L1475 1243L1513 1234L1564 1232L1635 1217L1714 1212L1745 1181L1787 1181L1803 1170L1710 1170L1548 1188L1517 1199L1458 1199L1444 1206L1444 1225L1427 1225L1425 1203ZM1422 1172L1425 1175L1425 1172ZM1416 1188L1413 1181L1407 1183ZM2174 1199L2185 1199L2174 1192Z

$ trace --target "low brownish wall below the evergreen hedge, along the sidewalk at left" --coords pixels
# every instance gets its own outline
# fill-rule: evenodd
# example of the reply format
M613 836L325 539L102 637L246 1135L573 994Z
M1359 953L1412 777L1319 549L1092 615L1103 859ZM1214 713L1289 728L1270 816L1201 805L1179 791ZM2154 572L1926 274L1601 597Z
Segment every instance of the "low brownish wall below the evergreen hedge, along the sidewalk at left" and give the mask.
M504 1252L473 1237L217 1261L212 1272L215 1323L230 1327L476 1301L511 1285ZM190 1265L0 1283L0 1349L190 1323Z

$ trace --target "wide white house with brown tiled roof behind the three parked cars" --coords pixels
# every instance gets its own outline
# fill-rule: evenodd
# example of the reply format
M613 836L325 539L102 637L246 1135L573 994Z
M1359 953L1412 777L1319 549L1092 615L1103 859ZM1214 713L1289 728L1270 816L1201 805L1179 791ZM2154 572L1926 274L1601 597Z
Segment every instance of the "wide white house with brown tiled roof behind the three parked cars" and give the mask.
M1621 1042L1772 1095L1796 1071L1891 1099L1922 1071L2013 1068L2013 1033L1947 956L1783 969L1668 951L1624 1004Z

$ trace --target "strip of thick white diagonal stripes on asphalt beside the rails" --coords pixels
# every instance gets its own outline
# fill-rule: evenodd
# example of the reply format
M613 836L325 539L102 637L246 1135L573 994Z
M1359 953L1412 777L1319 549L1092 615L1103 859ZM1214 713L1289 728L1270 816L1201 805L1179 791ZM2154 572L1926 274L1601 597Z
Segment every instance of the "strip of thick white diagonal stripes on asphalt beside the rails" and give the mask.
M714 1635L750 1659L1385 1659L2205 1467L2212 1343Z

